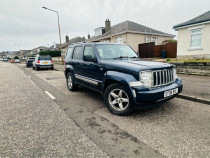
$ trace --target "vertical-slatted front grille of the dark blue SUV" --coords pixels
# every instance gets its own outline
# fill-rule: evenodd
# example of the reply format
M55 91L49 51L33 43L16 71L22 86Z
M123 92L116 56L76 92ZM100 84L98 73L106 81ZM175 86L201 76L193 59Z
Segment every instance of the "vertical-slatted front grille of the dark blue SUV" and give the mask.
M173 69L153 71L153 86L159 87L170 84L174 81Z

